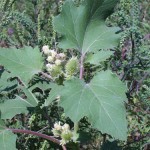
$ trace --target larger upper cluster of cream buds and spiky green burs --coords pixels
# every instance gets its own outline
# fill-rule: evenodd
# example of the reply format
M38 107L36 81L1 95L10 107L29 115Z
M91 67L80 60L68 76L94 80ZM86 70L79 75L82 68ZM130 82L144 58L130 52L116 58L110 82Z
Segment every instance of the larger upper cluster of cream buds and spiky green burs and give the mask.
M44 45L42 51L46 56L46 70L53 79L59 76L70 79L78 72L79 62L77 57L72 56L72 58L67 60L65 53L58 53L56 50L51 50L48 45Z

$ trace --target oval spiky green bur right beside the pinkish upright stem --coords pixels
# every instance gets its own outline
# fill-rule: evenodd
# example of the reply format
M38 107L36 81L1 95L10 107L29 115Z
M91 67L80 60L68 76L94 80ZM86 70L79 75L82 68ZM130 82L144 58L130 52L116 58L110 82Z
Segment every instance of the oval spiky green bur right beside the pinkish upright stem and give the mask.
M65 66L65 71L68 76L73 76L77 73L79 68L79 62L77 57L72 57Z

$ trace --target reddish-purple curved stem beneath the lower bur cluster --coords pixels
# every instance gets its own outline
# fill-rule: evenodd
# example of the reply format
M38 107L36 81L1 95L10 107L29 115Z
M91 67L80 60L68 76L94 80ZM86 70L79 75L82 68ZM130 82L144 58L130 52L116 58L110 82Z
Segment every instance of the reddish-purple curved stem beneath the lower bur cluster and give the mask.
M49 141L52 141L52 142L60 145L60 141L58 139L56 139L56 138L54 138L52 136L48 136L46 134L39 133L39 132L35 132L35 131L31 131L31 130L22 130L22 129L10 129L10 128L8 128L7 130L12 131L13 133L24 133L24 134L35 135L35 136L47 139ZM62 145L62 149L63 150L67 150L64 145Z

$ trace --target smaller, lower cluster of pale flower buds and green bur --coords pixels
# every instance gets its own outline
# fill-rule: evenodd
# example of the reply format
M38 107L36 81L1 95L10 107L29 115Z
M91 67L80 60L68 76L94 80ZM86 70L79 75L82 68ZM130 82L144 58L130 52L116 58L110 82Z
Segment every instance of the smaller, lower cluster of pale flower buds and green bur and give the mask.
M60 122L54 124L52 132L55 137L61 138L61 145L64 145L73 140L73 132L70 130L69 124L65 123L61 126Z

